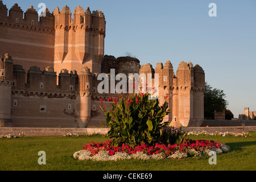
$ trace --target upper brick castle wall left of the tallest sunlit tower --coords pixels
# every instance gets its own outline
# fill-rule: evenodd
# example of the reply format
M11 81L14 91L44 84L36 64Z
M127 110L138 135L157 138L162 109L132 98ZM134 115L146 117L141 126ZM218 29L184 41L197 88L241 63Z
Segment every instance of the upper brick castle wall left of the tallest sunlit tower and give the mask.
M54 27L53 16L40 18L31 6L23 14L18 4L9 10L0 2L0 50L10 53L14 64L22 65L25 71L34 65L44 68L53 66ZM23 19L24 16L24 19Z

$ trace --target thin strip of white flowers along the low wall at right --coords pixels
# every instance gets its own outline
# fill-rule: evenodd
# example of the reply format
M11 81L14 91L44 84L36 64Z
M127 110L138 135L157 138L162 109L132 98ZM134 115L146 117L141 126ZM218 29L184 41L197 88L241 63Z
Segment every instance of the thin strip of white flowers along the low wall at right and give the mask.
M251 134L249 132L242 132L242 133L233 133L233 132L214 132L214 133L208 133L207 131L189 131L188 135L211 135L211 136L221 136L221 137L226 137L226 136L234 136L234 137L251 137Z

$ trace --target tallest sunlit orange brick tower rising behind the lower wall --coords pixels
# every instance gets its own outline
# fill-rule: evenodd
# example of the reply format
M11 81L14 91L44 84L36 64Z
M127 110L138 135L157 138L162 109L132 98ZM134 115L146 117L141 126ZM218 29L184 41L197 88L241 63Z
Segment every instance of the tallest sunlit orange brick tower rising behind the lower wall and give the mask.
M88 67L92 73L101 72L104 59L105 16L101 11L91 13L76 7L71 19L68 6L61 11L57 7L55 16L54 69L81 70Z

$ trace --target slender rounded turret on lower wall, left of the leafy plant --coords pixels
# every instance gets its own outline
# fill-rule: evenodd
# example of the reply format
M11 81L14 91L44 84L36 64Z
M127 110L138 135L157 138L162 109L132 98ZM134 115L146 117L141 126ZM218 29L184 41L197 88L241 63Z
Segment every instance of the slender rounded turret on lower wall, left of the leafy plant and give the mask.
M85 127L90 120L92 102L92 73L90 69L82 68L79 73L79 96L76 99L76 111L79 113L77 123L79 127Z

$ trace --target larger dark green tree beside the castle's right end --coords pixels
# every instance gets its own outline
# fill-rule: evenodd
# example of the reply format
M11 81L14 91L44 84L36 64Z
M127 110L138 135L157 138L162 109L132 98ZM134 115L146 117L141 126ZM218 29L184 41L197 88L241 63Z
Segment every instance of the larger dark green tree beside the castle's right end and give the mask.
M228 101L223 90L212 88L207 82L205 82L204 92L204 118L214 119L214 110L222 111L228 106Z

